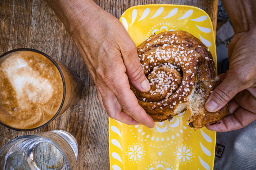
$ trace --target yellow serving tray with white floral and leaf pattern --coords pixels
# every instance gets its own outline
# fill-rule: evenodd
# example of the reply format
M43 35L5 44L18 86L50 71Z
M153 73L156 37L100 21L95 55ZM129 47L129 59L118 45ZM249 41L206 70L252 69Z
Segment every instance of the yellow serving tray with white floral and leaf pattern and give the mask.
M199 38L216 61L213 26L209 15L194 6L140 5L126 10L120 21L136 46L152 34L184 30ZM216 65L217 68L217 65ZM111 170L213 169L216 132L188 126L189 114L155 122L152 129L109 119Z

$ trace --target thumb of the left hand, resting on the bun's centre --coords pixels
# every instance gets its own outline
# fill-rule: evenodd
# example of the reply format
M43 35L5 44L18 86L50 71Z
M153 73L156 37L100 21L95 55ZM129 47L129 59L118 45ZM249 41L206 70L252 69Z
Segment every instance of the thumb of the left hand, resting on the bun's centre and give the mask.
M124 65L126 67L126 74L132 85L139 91L147 92L150 90L150 84L144 74L144 70L139 61L138 53L134 42L131 40L126 47L120 48Z

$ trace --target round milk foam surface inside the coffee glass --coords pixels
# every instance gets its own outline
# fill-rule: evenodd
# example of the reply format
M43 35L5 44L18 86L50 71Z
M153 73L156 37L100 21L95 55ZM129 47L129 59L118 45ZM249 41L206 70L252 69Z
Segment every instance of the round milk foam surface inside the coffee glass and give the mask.
M0 121L16 129L47 123L63 99L57 67L45 56L18 51L0 63Z

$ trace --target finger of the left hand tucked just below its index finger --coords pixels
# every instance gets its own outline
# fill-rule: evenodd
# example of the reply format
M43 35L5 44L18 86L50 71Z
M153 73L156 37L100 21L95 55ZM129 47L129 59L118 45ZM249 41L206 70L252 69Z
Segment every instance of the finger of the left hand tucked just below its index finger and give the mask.
M103 87L102 91L104 91L104 93L102 93L102 103L104 108L106 108L106 112L110 118L128 125L140 125L138 121L124 113L115 97L115 94L110 89L108 89L108 87Z

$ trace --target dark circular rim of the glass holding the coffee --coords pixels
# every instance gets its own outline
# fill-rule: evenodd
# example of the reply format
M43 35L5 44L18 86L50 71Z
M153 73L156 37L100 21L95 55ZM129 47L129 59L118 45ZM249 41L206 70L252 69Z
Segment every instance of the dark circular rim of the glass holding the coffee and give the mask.
M9 128L9 129L16 130L16 131L33 131L33 130L38 130L38 129L41 129L42 127L48 125L50 122L52 122L52 121L57 117L57 115L60 113L60 111L61 111L61 109L62 109L62 106L63 106L63 104L64 104L65 96L66 96L65 79L64 79L64 76L63 76L63 73L62 73L60 67L59 67L58 64L54 61L54 59L53 59L52 57L48 56L46 53L43 53L43 52L41 52L41 51L39 51L39 50L36 50L36 49L29 49L29 48L13 49L13 50L11 50L11 51L8 51L8 52L2 54L2 55L0 56L0 59L1 59L2 57L4 57L4 56L10 54L10 53L17 52L17 51L32 51L32 52L39 53L39 54L41 54L41 55L47 57L47 58L56 66L56 68L58 69L59 73L61 74L61 79L62 79L62 83L63 83L63 98L62 98L62 101L61 101L60 108L58 109L58 111L56 112L56 114L55 114L49 121L47 121L45 124L43 124L43 125L41 125L41 126L38 126L38 127L36 127L36 128L31 128L31 129L17 129L17 128L13 128L13 127L8 126L8 125L6 125L6 124L4 124L4 123L2 123L2 122L0 121L0 124L4 125L5 127Z

